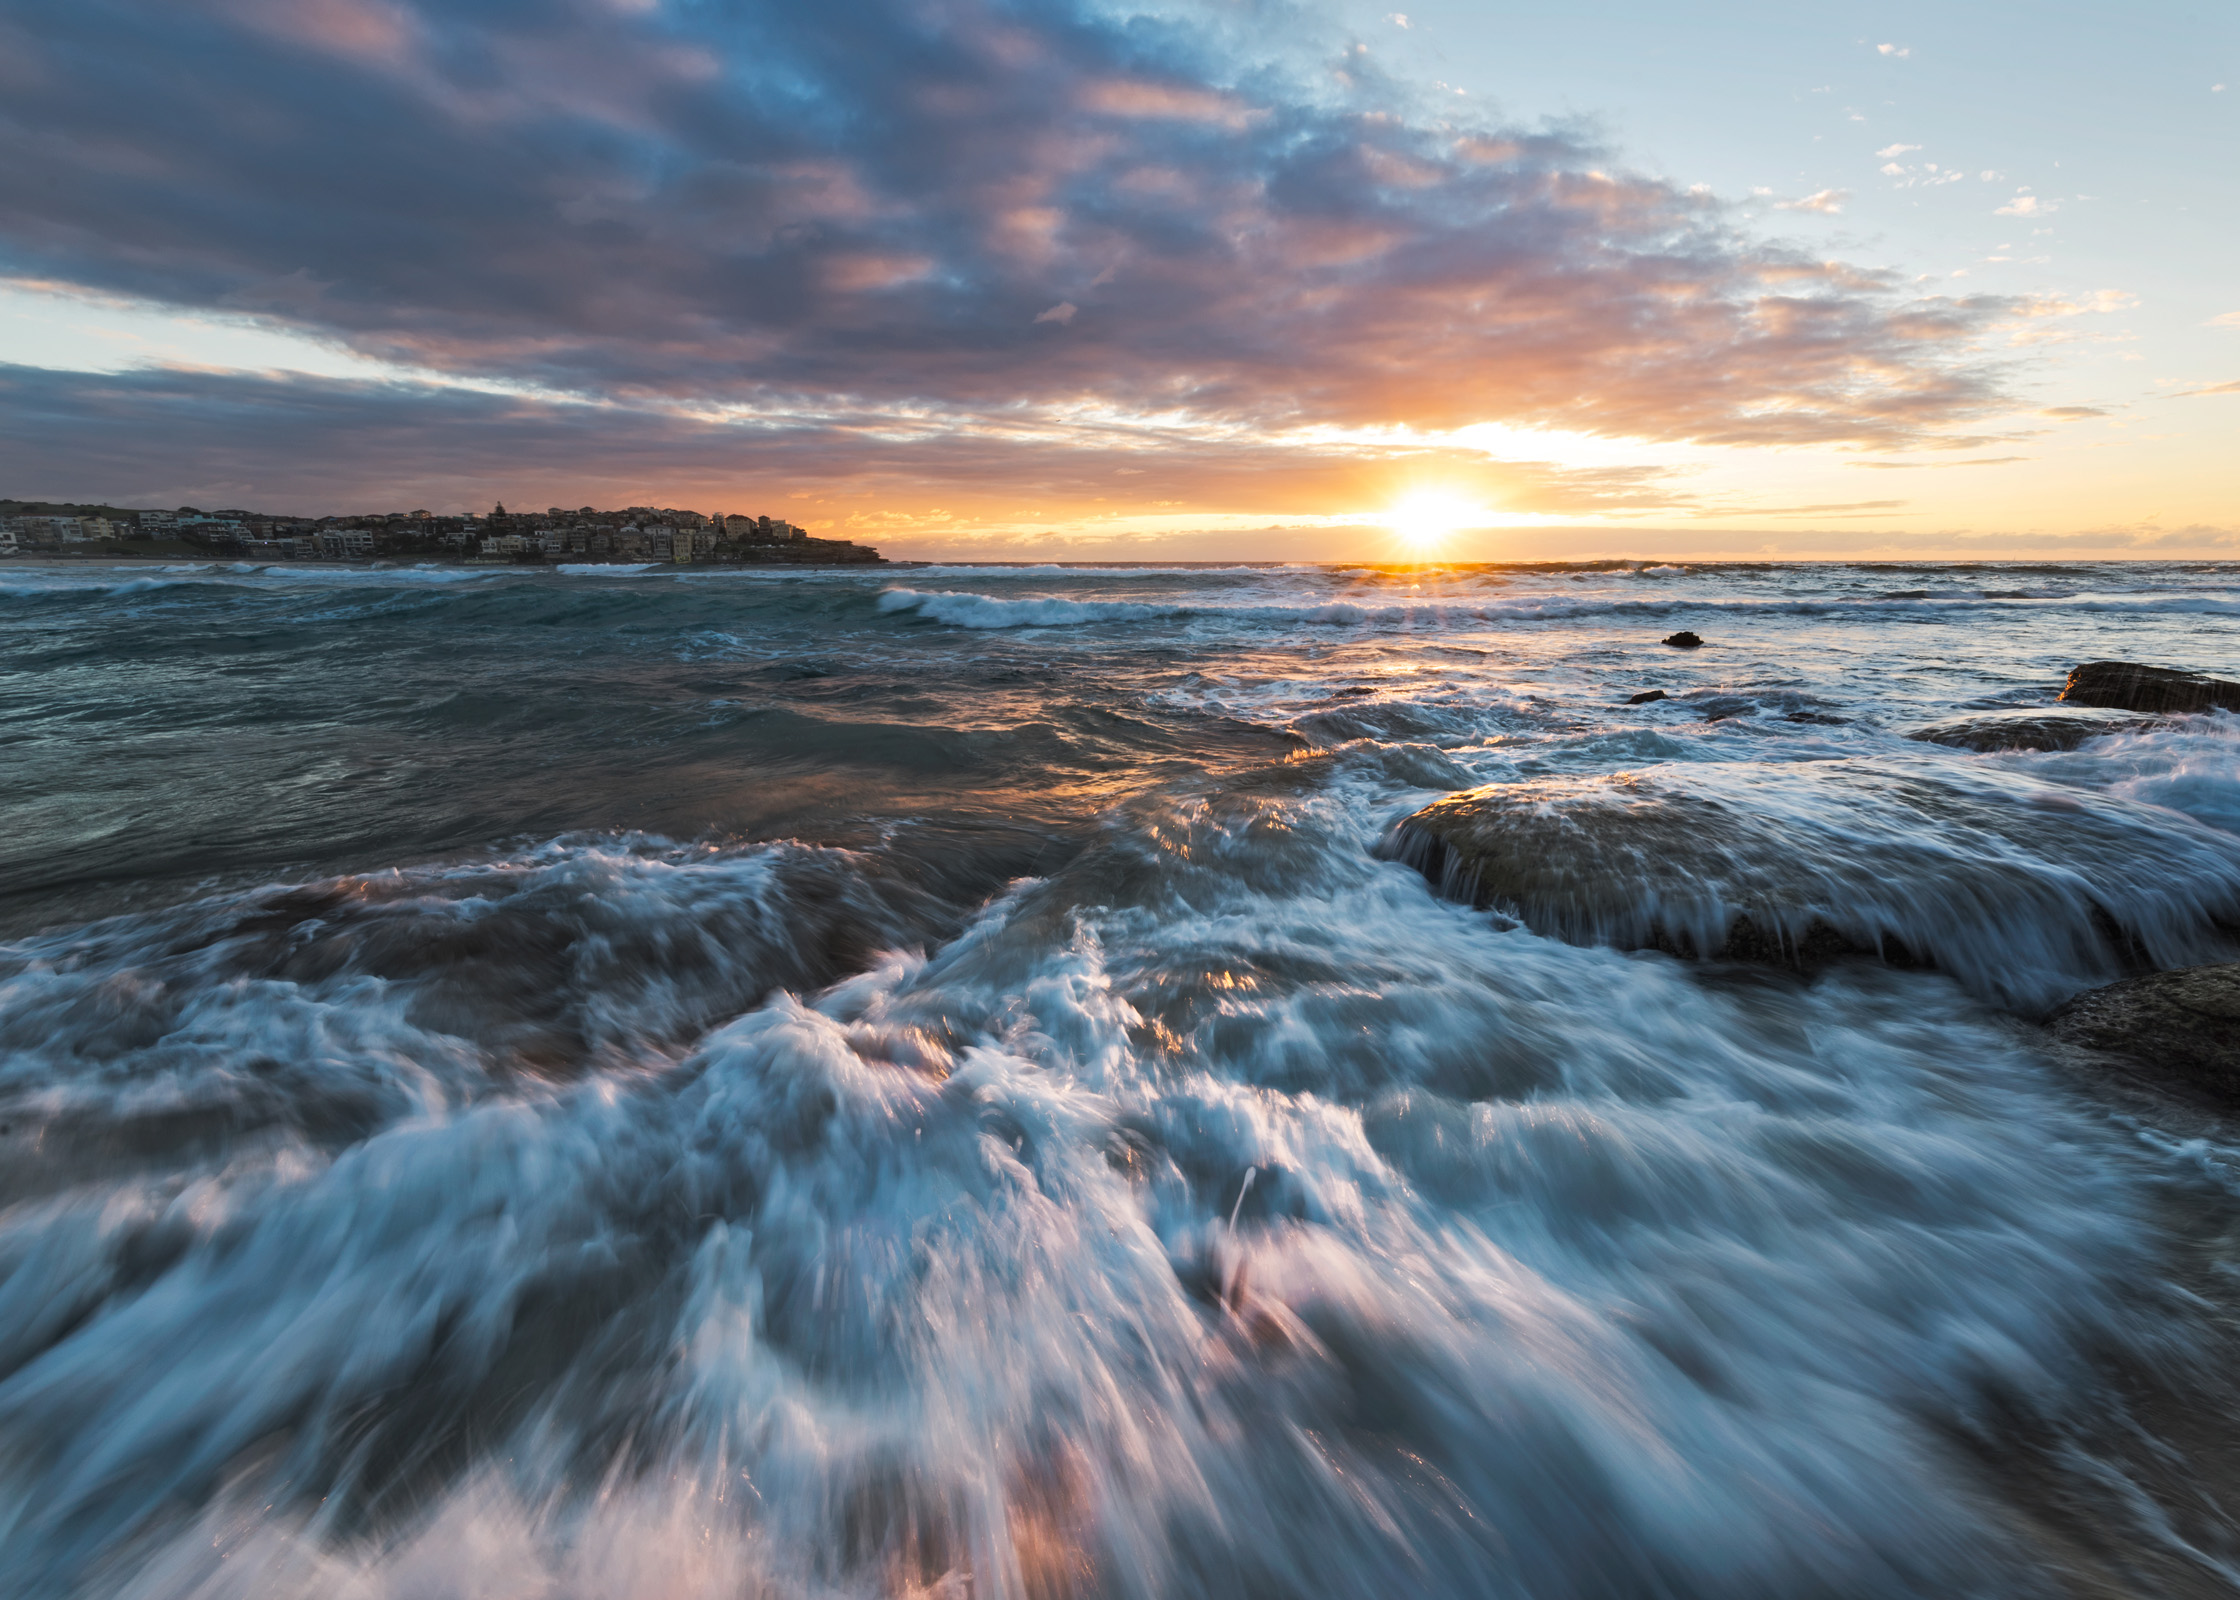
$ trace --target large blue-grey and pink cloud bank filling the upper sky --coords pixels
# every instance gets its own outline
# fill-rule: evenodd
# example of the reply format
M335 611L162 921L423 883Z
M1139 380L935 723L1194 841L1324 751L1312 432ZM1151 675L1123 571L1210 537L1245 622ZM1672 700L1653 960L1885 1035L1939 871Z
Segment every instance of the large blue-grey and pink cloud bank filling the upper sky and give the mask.
M16 0L18 276L594 397L1900 444L2003 307L1082 0Z

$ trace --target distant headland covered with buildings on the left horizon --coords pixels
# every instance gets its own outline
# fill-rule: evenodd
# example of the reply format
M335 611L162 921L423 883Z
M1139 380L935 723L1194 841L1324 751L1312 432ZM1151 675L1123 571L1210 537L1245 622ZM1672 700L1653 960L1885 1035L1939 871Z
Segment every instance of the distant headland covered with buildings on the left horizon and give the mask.
M0 500L0 556L220 556L233 560L455 560L475 567L547 562L856 565L869 545L811 538L782 518L625 506L435 515L383 511L287 518L260 511L130 511Z

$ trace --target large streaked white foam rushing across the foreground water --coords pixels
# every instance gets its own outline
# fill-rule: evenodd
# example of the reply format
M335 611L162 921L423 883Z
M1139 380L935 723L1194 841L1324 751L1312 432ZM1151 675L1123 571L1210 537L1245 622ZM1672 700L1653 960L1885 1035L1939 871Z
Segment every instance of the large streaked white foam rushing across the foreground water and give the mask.
M1044 910L1093 885L1030 885L934 961L757 1006L650 1078L18 1206L7 1324L87 1320L0 1383L9 1436L45 1441L0 1479L11 1571L47 1593L211 1497L143 1582L401 1596L464 1562L594 1596L654 1562L1355 1596L1404 1560L1418 1593L1564 1591L1602 1537L1626 1587L1796 1593L2012 1560L1915 1416L1987 1383L2059 1412L2146 1268L2119 1150L2023 1049L1935 984L1723 997L1501 934L1317 838L1268 863L1313 865L1304 894L1192 865L1243 827L1172 811L1187 854L1127 845L1165 885L1071 941ZM670 919L699 872L618 914ZM1198 910L1151 919L1169 892ZM1205 970L1252 982L1201 1008L1176 979ZM150 1239L172 1266L139 1293ZM524 1347L560 1306L582 1331ZM598 1378L600 1340L670 1358ZM450 1398L383 1430L517 1416L511 1466L432 1479L399 1546L289 1535L367 1492L349 1441L399 1385ZM276 1439L258 1481L302 1488L228 1517ZM569 1492L582 1472L609 1488ZM656 1486L701 1531L683 1566Z

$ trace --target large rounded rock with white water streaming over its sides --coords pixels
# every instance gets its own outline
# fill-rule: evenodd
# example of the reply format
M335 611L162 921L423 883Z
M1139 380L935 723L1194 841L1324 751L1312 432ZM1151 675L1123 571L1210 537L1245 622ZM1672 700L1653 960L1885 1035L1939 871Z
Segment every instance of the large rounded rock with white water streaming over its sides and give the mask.
M1879 955L2027 1011L2141 959L2229 959L2240 928L2240 838L1926 755L1917 771L1676 762L1492 784L1416 811L1384 854L1570 943Z

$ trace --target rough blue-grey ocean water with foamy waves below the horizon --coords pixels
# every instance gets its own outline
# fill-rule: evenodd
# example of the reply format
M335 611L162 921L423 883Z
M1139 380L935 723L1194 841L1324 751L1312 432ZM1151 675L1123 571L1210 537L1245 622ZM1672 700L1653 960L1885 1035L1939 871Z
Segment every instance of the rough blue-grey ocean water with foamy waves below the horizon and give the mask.
M0 1589L2233 1593L2240 1145L2034 1020L2240 955L2240 719L1902 737L2101 657L2240 567L0 567Z

